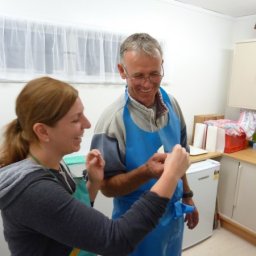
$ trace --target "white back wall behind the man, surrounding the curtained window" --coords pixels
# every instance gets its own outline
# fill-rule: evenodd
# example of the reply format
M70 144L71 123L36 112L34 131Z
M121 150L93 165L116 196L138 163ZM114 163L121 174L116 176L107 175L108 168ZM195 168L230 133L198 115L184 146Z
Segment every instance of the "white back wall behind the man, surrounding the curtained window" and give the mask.
M192 133L196 114L222 114L225 111L227 81L232 48L234 19L199 8L164 0L2 0L0 14L79 27L94 27L125 34L148 32L166 42L166 90L179 101ZM19 89L16 86L15 89ZM121 92L121 87L84 86L82 97L88 115L98 117L104 107ZM2 87L1 90L4 90ZM6 90L5 90L5 93ZM9 99L16 95L8 91ZM101 100L97 100L99 95ZM107 97L111 95L111 97ZM0 96L2 105L2 97ZM92 101L92 102L90 102ZM13 108L9 100L4 105ZM88 104L91 104L88 105ZM10 118L0 108L0 127ZM93 128L92 128L93 129ZM90 139L90 138L89 138ZM87 144L87 143L84 143ZM86 147L86 146L83 146Z

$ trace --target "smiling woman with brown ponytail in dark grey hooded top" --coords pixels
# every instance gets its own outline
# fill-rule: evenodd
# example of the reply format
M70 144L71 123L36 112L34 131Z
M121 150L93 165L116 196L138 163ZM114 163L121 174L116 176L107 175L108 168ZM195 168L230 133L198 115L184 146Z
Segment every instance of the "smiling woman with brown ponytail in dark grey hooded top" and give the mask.
M30 81L17 97L17 118L6 127L0 153L0 209L12 255L75 255L74 248L128 254L156 226L189 166L179 145L162 154L158 182L122 218L109 220L73 197L78 186L61 164L64 155L80 149L90 128L83 110L76 89L49 77ZM103 167L100 152L92 150L86 184L91 201Z

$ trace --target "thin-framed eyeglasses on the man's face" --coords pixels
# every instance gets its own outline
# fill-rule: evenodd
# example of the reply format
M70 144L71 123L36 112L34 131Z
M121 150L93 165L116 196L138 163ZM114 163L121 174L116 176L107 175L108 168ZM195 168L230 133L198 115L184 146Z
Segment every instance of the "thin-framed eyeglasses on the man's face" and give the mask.
M163 68L162 64L161 64L161 69L162 69L161 73L154 72L154 73L149 74L148 76L144 76L142 74L129 75L126 67L124 65L122 65L122 66L123 66L126 76L129 79L131 79L134 82L134 84L144 84L148 79L152 84L159 84L161 82L162 78L164 77L164 68Z

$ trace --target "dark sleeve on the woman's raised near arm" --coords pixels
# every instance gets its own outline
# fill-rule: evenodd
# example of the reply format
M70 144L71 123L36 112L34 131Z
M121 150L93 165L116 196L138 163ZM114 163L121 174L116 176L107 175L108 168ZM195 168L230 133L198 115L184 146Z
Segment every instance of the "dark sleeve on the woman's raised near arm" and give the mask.
M60 184L40 180L15 201L19 222L60 243L101 255L127 255L158 223L168 199L144 194L120 219L110 220L74 199Z

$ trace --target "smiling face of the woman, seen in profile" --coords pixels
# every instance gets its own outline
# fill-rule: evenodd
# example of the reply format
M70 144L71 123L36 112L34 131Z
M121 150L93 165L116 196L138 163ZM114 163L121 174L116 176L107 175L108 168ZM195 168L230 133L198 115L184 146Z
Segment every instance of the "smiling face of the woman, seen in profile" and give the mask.
M91 127L91 123L83 111L83 104L80 98L77 98L67 114L54 127L48 127L50 146L59 151L61 155L70 154L80 149L84 129Z

